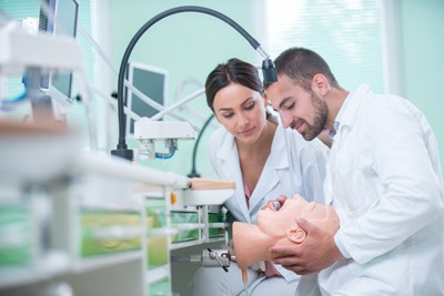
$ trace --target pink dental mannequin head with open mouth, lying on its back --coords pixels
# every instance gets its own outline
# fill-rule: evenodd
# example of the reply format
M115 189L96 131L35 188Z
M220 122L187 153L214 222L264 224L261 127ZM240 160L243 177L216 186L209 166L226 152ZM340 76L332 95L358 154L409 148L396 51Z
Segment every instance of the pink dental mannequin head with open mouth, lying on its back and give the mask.
M296 218L303 217L324 232L333 235L340 221L333 207L309 203L294 195L279 211L265 208L258 214L258 225L234 222L233 245L236 263L242 269L242 280L246 283L246 267L262 261L272 261L269 248L274 245L301 244L306 238L304 229L299 227Z

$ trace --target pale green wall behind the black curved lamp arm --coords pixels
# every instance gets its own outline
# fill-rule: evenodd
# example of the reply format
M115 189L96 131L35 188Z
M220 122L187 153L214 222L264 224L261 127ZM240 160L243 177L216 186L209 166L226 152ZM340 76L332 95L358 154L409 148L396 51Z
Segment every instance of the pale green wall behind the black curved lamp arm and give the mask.
M241 24L260 43L259 37L254 35L253 27L255 19L260 16L253 13L253 1L147 1L132 0L110 1L111 8L111 48L112 59L120 67L121 59L128 43L134 33L152 17L178 6L202 6L214 9ZM139 40L130 61L139 61L162 68L169 71L169 98L173 102L175 91L180 83L189 78L199 80L202 85L209 72L220 62L225 62L232 57L258 63L261 55L225 22L208 14L198 12L183 12L173 14L153 24ZM117 78L115 78L117 85ZM117 88L117 86L115 86ZM199 88L189 85L179 98L186 96ZM199 96L188 104L206 119L211 115L206 106L204 95ZM167 118L167 120L174 120ZM191 122L193 119L190 119ZM201 127L201 126L200 126ZM213 176L208 162L206 140L211 131L208 129L199 145L198 172L203 176ZM129 145L137 146L135 142L129 141ZM143 161L152 167L188 174L191 171L191 155L194 141L180 141L179 151L175 156L168 161ZM159 143L163 150L163 144Z

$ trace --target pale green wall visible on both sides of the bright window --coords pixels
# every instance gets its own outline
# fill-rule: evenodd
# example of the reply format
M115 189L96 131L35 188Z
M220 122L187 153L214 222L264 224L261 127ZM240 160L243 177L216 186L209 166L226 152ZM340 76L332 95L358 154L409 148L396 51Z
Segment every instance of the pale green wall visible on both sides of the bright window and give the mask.
M261 13L254 10L250 1L147 1L131 2L112 0L111 38L112 57L120 65L123 52L133 34L155 14L183 4L204 6L215 9L240 23L259 42L262 43L255 29L261 20ZM440 100L440 85L444 81L444 1L443 0L400 0L396 1L400 23L402 50L402 95L415 103L430 120L441 147L441 159L444 166L444 101ZM266 50L266 49L265 49ZM189 78L204 82L206 74L216 63L239 57L259 64L260 55L250 44L219 19L211 16L185 12L168 17L140 39L130 58L132 61L144 62L167 69L170 73L169 98L173 102L179 84ZM115 79L117 85L117 79ZM196 90L196 85L183 89L179 98ZM169 103L167 103L169 104ZM205 98L201 95L189 103L203 115L211 113L206 108ZM168 118L167 118L168 119ZM171 120L171 119L168 119ZM193 119L190 119L193 121ZM206 140L213 131L205 131L199 145L198 171L204 176L212 176L208 163ZM130 146L137 143L129 141ZM176 155L169 161L144 161L149 166L188 174L191 170L191 155L194 141L180 141ZM162 149L161 145L159 145ZM412 155L414 156L414 155Z

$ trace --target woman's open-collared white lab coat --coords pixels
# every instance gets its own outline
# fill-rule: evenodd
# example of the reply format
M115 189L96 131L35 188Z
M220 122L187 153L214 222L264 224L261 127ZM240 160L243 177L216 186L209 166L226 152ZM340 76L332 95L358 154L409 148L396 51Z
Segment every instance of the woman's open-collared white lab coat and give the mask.
M293 176L290 173L284 133L289 135ZM224 204L234 220L255 224L261 207L279 195L292 197L293 194L300 194L307 201L324 203L322 184L329 149L317 139L307 142L297 132L284 130L281 124L278 126L270 155L256 187L251 194L250 207L245 202L242 172L233 135L221 127L214 132L209 143L210 160L218 176L235 182L235 193ZM291 177L294 180L295 187L292 186ZM296 277L293 272L282 266L276 265L276 268L287 280Z

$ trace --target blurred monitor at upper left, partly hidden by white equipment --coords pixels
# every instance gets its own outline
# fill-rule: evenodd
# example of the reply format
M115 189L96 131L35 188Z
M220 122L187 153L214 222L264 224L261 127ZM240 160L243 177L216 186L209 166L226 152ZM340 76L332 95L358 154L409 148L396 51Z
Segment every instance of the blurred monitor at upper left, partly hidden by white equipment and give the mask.
M78 18L77 0L41 0L39 30L54 35L75 37ZM50 73L42 76L40 85L62 105L72 103L72 73Z

